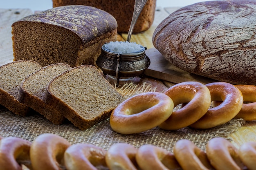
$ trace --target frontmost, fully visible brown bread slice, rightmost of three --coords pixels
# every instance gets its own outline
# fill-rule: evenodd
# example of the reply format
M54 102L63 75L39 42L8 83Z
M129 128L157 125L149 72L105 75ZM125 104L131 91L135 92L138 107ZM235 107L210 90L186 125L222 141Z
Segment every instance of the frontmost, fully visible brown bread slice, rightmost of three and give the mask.
M46 96L47 104L81 130L110 117L111 111L124 99L91 65L78 66L54 77Z

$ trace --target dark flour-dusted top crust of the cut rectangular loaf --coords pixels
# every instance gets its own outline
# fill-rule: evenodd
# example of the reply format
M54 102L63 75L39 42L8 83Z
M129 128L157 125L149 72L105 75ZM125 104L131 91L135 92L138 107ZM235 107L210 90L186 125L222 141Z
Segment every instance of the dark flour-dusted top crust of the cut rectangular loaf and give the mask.
M106 11L83 5L48 9L24 17L12 26L18 22L40 22L63 27L78 35L85 46L90 46L88 43L94 38L117 28L117 22L112 15Z

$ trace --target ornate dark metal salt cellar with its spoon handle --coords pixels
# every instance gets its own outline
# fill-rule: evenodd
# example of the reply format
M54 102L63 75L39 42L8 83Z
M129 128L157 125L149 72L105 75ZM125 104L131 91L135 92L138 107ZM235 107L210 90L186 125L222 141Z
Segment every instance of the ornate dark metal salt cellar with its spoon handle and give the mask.
M128 42L130 42L132 31L146 2L147 0L135 0L132 21L127 37ZM118 53L109 51L106 49L105 45L106 44L101 47L101 55L96 64L101 68L104 74L110 75L110 77L117 80L117 86L120 79L128 80L141 75L150 65L150 60L145 53L146 47L139 45L141 46L141 50L139 51L132 53Z

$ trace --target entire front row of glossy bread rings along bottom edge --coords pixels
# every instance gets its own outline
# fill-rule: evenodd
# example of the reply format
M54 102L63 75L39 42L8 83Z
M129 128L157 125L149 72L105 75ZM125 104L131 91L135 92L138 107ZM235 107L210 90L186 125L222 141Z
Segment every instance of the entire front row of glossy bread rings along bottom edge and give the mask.
M19 137L0 140L1 170L255 170L256 142L234 147L216 137L202 150L192 141L178 140L173 152L154 145L116 143L108 150L93 144L70 144L45 133L33 142ZM25 166L25 167L24 167Z

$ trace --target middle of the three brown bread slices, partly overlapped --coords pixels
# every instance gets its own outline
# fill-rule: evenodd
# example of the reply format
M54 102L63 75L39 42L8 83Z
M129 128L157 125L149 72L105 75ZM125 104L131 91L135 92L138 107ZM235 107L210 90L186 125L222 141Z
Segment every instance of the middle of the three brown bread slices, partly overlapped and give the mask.
M49 82L58 74L70 69L68 64L51 64L26 77L21 85L18 100L43 115L53 124L63 124L65 117L45 103L45 93Z

